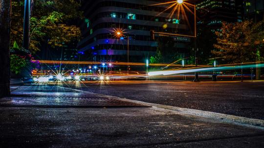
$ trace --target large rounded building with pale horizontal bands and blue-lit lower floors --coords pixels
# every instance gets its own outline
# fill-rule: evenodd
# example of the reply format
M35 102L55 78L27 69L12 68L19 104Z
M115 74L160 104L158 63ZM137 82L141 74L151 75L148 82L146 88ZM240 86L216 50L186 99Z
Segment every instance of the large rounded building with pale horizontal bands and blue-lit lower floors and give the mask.
M153 41L151 30L193 34L182 15L171 15L173 7L163 12L168 5L154 5L166 1L171 0L84 0L86 18L81 25L83 40L78 43L78 52L92 56L93 61L126 62L129 54L130 62L145 62L155 55L156 40L162 38L155 34ZM117 37L116 30L123 36ZM175 52L187 52L190 38L169 38L175 42Z

